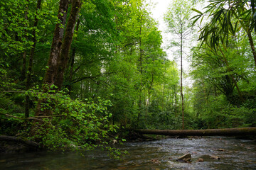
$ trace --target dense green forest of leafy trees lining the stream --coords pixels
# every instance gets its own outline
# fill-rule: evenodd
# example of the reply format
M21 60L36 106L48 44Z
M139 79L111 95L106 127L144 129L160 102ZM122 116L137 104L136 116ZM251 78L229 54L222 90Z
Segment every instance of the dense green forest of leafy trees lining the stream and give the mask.
M132 128L255 127L255 1L172 1L172 60L150 6L1 0L0 135L90 149Z

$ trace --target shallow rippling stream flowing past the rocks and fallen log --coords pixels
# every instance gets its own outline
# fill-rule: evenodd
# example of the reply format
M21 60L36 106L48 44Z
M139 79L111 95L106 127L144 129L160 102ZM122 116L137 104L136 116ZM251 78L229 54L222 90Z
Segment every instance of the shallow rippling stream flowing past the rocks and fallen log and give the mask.
M127 150L122 160L111 159L106 152L95 149L65 154L29 152L0 154L0 169L256 169L256 142L233 137L203 137L132 142L117 146ZM221 149L222 151L218 151ZM176 162L183 154L191 154L191 163ZM218 156L220 159L211 159ZM204 162L197 162L203 158Z

